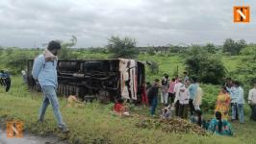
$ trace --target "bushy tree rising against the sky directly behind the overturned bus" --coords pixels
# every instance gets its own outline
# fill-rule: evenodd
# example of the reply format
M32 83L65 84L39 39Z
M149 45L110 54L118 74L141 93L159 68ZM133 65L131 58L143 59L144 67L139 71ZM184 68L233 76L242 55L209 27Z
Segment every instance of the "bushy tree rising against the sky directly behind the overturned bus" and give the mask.
M136 40L134 38L112 36L108 40L107 48L112 53L111 58L136 59L138 57L139 50L136 49Z

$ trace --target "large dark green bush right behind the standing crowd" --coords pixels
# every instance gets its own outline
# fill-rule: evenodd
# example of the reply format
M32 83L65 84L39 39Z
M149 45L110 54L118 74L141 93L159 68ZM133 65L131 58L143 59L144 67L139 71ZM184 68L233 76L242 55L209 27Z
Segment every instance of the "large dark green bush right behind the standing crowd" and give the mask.
M206 84L221 84L225 77L225 67L218 55L210 55L206 49L193 45L185 57L186 70Z

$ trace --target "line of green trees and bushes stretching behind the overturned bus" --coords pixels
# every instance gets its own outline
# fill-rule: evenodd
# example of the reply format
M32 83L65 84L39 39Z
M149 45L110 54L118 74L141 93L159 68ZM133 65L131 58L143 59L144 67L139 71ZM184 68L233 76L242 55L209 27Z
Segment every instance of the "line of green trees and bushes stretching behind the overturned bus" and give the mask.
M78 54L82 51L90 51L92 53L105 53L109 55L110 59L125 58L138 59L140 49L137 47L137 40L132 37L111 36L104 48L90 48L90 49L73 49L77 43L77 37L71 36L69 41L59 40L62 44L62 51L59 56L61 60L76 60ZM154 47L148 49L148 55L156 55L156 49L163 47ZM166 50L166 48L165 48ZM220 84L224 77L236 76L237 79L243 81L255 81L256 69L256 45L247 44L245 40L241 39L235 41L228 38L224 41L222 46L216 46L213 43L205 45L168 45L167 53L178 55L184 61L186 71L194 77L198 77L203 83ZM74 53L76 52L76 53ZM0 69L9 68L12 73L19 73L26 67L26 62L29 59L34 59L38 54L42 53L41 49L17 49L17 48L3 48L0 47ZM241 55L243 61L238 66L238 70L228 72L221 61L221 56L237 56ZM171 56L170 56L171 57ZM149 71L158 75L159 64L156 61L150 60L145 62Z

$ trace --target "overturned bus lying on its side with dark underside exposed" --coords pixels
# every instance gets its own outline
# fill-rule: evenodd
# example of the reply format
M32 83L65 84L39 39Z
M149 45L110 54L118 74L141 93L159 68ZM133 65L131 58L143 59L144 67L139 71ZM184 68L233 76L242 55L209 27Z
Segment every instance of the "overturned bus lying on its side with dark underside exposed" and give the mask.
M38 89L32 77L34 60L28 60L27 79L31 88ZM58 94L76 94L83 101L101 102L125 98L140 103L145 83L144 64L137 60L59 60Z

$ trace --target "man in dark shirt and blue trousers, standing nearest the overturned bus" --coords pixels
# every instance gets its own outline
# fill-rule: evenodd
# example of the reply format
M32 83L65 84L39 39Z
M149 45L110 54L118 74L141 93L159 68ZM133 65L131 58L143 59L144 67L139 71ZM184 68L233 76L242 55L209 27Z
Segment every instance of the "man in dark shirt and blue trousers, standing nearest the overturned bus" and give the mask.
M157 108L157 104L158 104L158 90L161 87L161 85L159 84L159 80L156 79L155 80L155 84L152 85L152 87L149 89L148 91L148 98L151 100L150 103L150 107L151 107L151 111L150 114L153 116L155 114L155 110Z

